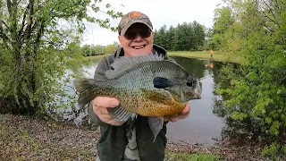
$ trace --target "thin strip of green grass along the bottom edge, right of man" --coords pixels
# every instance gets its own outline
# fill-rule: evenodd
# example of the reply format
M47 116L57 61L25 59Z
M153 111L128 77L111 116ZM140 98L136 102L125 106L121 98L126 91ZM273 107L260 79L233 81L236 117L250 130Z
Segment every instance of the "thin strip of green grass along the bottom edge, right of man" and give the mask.
M217 161L223 160L222 157L214 156L212 154L185 154L167 152L166 157L168 161Z

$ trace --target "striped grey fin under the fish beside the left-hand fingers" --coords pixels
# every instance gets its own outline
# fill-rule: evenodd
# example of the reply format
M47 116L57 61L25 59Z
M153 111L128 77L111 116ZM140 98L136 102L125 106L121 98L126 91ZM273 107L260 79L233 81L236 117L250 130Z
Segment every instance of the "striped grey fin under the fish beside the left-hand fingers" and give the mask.
M122 106L107 108L107 111L113 116L114 121L116 122L126 122L130 118L133 121L137 117L137 114L127 111Z

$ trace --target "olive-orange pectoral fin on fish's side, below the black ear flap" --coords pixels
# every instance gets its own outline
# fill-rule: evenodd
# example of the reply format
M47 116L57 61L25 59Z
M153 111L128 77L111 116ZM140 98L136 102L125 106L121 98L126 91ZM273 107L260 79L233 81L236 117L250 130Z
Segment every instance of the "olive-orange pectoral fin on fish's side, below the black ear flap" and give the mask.
M143 93L145 94L144 96L147 96L147 99L150 99L152 101L156 101L159 103L163 103L165 104L166 102L171 101L171 97L169 94L162 94L153 90L148 90L148 89L141 89L143 91Z

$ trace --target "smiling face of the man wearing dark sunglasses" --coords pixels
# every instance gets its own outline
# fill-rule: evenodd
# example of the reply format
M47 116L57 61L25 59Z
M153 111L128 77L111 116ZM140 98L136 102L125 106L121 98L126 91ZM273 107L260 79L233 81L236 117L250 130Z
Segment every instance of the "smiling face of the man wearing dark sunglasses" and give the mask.
M153 32L142 23L134 23L119 36L119 42L124 50L125 56L149 55L153 48Z

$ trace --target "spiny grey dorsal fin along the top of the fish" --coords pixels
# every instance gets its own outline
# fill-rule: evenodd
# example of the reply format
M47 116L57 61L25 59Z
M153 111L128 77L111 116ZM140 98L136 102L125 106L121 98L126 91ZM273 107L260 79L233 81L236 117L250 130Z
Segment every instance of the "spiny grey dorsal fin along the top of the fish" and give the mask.
M114 70L106 71L105 76L107 77L107 79L113 79L116 76L120 75L122 72L133 68L137 64L162 60L164 60L164 55L158 55L157 53L151 53L150 55L139 55L135 57L122 56L114 60L114 63L111 64L111 67L113 67Z

